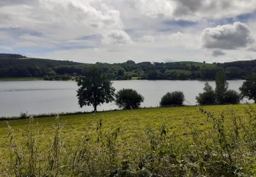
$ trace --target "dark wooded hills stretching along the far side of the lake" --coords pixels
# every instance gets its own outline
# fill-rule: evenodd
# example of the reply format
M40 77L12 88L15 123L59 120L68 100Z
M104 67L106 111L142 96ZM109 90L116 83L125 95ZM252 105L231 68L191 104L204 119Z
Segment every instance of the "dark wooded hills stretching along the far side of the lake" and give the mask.
M212 64L194 61L86 64L35 59L20 54L0 54L0 78L44 77L45 80L69 80L83 74L83 70L89 65L101 67L111 80L213 80L221 69L224 69L227 77L232 80L256 73L256 60Z

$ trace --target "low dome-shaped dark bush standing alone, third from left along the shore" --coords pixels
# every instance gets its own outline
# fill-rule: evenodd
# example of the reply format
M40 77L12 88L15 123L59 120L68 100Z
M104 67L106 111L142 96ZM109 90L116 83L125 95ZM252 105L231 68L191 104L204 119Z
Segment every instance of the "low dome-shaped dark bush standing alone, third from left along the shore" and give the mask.
M184 102L184 93L181 91L174 91L165 94L161 101L160 106L182 106Z

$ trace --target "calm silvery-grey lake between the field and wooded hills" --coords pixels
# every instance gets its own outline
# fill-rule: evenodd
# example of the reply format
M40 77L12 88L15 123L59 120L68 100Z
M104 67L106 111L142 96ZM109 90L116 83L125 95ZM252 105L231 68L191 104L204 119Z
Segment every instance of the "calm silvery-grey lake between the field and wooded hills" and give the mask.
M238 91L243 80L229 80L229 88ZM113 86L133 88L144 97L142 107L159 106L162 95L183 91L186 105L195 105L195 97L203 91L205 82L199 80L118 80ZM214 86L214 81L209 82ZM0 116L92 111L92 107L79 108L74 81L0 81ZM247 100L242 100L244 103ZM250 101L253 103L253 101ZM117 109L115 103L103 104L98 110Z

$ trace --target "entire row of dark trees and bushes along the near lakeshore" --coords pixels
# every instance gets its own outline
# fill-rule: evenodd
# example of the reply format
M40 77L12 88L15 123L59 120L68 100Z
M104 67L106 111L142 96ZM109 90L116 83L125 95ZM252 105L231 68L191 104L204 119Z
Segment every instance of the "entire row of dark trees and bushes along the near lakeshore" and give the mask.
M76 83L79 86L77 91L79 106L81 108L93 106L94 112L100 104L112 101L122 109L137 109L144 100L141 94L131 88L123 88L115 93L112 82L99 67L86 69L83 76L76 79ZM199 105L237 104L244 97L253 99L256 103L256 74L246 77L246 81L240 87L241 93L228 89L229 84L224 71L218 71L215 83L216 88L213 89L208 82L205 82L203 93L199 93L196 97ZM184 101L184 93L174 91L162 97L160 106L182 106Z

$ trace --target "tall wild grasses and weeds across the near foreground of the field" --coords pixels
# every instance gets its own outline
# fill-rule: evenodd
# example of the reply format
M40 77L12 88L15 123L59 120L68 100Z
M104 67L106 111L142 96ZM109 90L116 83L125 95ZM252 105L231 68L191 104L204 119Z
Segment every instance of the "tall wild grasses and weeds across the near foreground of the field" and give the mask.
M22 136L7 123L8 153L4 176L255 176L256 112L203 108L205 127L186 121L189 132L177 135L167 121L139 129L132 142L121 140L122 127L106 129L102 119L90 123L76 141L65 137L56 116L52 136L27 118ZM181 127L182 128L182 127ZM137 129L137 127L134 127Z

